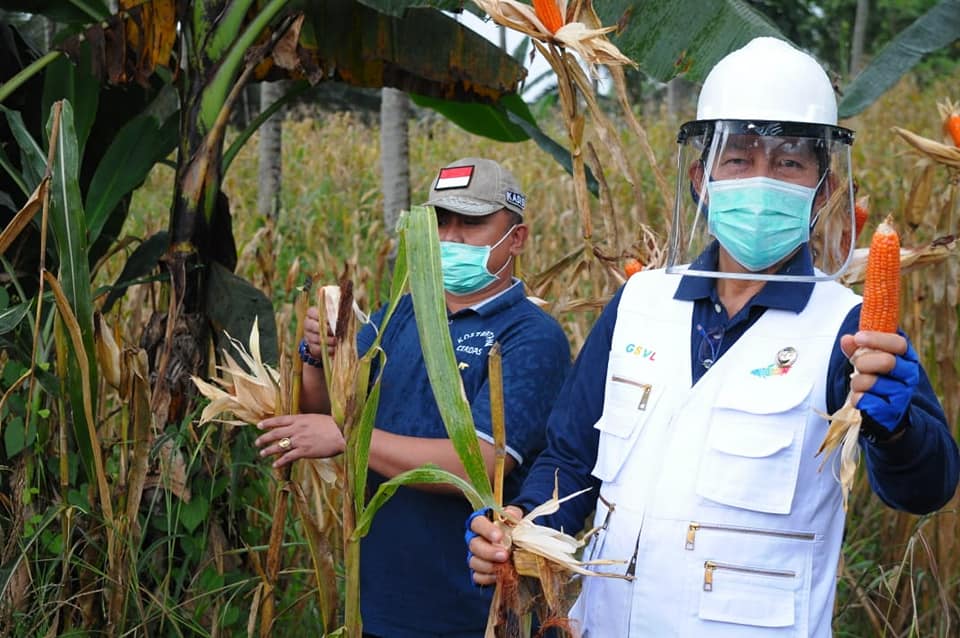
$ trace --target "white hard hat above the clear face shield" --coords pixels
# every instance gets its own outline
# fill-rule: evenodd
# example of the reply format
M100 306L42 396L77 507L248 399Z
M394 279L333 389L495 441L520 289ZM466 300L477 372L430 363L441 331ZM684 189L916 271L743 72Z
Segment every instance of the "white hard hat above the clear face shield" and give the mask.
M720 60L697 102L698 120L837 124L837 99L820 64L777 38L755 38Z

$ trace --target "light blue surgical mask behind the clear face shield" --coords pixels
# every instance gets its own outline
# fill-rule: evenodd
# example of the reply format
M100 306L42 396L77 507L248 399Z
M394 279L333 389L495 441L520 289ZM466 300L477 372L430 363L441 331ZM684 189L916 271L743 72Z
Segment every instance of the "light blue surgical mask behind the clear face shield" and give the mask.
M710 234L747 270L766 270L810 239L816 188L769 177L707 182Z

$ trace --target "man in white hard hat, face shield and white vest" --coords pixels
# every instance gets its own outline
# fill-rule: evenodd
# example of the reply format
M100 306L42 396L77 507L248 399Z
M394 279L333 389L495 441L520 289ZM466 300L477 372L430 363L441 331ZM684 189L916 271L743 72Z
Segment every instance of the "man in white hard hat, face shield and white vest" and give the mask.
M822 415L853 391L870 484L914 513L954 494L957 446L906 337L858 332L860 297L832 281L853 248L853 133L820 65L751 41L678 142L667 267L592 329L514 513L555 472L561 495L592 488L540 521L572 533L595 508L583 558L626 561L598 569L629 579L583 579L584 637L830 636L844 510ZM474 580L492 584L503 533L471 529Z

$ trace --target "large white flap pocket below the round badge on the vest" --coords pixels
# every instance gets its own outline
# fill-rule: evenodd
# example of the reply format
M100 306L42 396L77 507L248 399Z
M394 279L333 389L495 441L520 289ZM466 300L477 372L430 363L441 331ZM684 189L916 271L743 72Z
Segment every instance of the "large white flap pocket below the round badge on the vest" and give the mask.
M723 394L710 414L697 494L723 505L789 514L812 387L791 379L762 389L747 383Z

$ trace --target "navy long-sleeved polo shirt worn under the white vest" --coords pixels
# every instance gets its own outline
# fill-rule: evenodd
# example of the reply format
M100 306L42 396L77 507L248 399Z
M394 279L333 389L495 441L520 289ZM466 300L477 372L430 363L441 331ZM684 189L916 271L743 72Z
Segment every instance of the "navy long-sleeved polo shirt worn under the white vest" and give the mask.
M695 263L700 269L716 270L717 254L714 242ZM780 272L812 273L809 252L806 249L798 252ZM683 276L674 298L694 304L690 326L693 383L706 371L704 360L723 356L767 308L803 310L814 285L812 282L768 281L736 315L728 318L717 296L716 279ZM520 497L514 500L526 510L546 501L553 493L557 468L561 496L592 487L590 492L568 501L557 514L541 521L558 529L562 527L568 533L582 528L593 510L600 486L599 480L590 473L599 444L599 432L593 426L603 412L607 361L622 294L621 288L604 308L580 350L547 423L547 448L530 470ZM846 400L853 370L840 350L840 337L857 332L859 323L860 305L857 305L844 319L830 357L826 401L831 413ZM715 338L718 335L722 338ZM705 344L705 339L709 343ZM864 416L864 429L869 431L871 424ZM891 507L928 512L953 494L960 462L943 409L922 369L904 420L907 427L903 436L889 445L864 439L867 474L873 490ZM873 427L881 426L873 424Z

